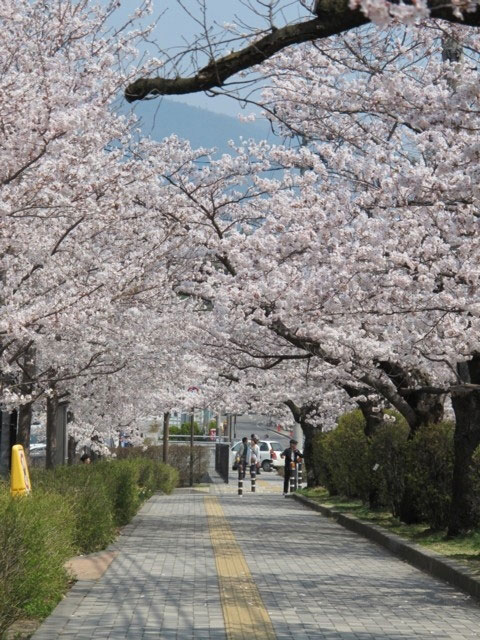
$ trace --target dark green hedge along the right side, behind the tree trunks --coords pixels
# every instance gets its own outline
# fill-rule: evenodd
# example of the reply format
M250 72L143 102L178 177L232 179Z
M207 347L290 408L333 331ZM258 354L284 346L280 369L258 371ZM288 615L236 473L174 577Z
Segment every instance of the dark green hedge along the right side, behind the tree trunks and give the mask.
M443 529L451 500L454 425L426 425L409 438L402 416L389 414L395 421L385 421L371 437L364 433L359 410L341 416L332 431L318 434L313 442L315 476L331 495L374 499L375 506L397 517L408 495L422 522ZM471 472L480 489L480 451ZM480 520L480 499L474 509Z

